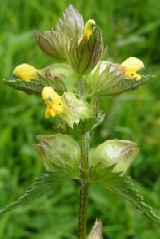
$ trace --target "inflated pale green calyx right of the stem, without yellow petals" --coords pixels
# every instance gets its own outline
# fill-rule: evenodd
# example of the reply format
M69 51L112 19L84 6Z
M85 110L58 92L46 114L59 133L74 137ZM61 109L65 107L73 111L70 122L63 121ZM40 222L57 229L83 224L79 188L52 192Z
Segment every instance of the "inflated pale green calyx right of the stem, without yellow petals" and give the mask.
M105 167L115 164L113 172L125 173L138 154L136 144L129 140L107 140L92 154L91 165L102 163Z

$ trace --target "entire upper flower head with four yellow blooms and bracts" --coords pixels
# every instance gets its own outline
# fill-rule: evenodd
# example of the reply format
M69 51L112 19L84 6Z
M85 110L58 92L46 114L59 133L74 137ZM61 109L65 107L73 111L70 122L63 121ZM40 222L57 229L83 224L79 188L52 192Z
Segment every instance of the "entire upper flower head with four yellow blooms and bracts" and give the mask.
M47 105L46 118L59 115L73 128L80 120L95 117L96 106L88 99L114 97L148 80L139 74L144 64L136 57L121 64L102 61L107 46L100 27L93 19L84 24L72 5L55 29L35 35L40 49L55 63L42 70L22 64L13 71L17 81L7 84L41 96Z

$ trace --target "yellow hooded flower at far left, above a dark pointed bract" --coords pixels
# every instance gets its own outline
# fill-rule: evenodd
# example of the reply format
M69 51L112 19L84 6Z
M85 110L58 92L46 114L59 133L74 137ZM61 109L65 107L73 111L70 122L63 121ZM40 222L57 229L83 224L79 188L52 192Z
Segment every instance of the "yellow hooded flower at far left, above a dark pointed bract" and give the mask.
M17 66L13 71L13 75L26 81L37 80L36 68L26 63Z

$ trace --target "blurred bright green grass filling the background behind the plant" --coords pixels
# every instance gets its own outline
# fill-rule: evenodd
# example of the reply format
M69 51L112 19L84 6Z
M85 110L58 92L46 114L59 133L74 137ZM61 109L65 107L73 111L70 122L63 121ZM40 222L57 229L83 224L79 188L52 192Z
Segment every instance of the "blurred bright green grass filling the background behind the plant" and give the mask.
M10 1L1 4L0 78L10 78L15 66L27 62L41 69L52 62L40 51L33 30L55 26L69 3L95 19L109 46L106 60L139 57L152 80L134 92L101 101L106 112L92 147L107 139L129 139L140 153L128 175L146 203L160 216L160 1ZM0 87L0 208L24 194L43 166L32 148L35 135L52 134L53 119L44 119L41 99L20 94L1 81ZM1 239L75 239L79 185L66 182L17 210L0 216ZM88 231L95 218L103 222L106 239L160 238L160 229L129 202L98 185L89 191Z

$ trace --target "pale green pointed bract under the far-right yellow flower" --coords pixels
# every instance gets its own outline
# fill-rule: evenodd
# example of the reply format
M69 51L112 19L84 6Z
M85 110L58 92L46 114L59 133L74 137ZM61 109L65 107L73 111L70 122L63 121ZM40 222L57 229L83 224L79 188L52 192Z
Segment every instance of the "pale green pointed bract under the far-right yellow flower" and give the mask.
M95 70L87 76L90 96L107 96L113 98L123 92L135 90L146 84L153 75L142 76L140 80L124 79L125 69L121 65L111 62L100 62Z

